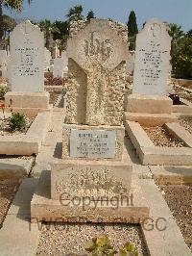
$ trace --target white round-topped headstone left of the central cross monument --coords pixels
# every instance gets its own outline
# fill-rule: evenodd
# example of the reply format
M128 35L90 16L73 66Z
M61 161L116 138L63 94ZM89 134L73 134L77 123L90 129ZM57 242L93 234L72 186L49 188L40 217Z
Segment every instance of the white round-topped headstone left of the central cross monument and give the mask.
M44 91L44 36L29 20L11 33L12 91Z

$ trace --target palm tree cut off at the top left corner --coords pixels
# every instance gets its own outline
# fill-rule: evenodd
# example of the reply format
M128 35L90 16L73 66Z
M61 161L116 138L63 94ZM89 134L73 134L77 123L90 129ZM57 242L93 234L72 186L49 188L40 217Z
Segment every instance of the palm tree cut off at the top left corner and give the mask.
M30 4L32 0L27 0ZM3 7L21 12L23 8L23 0L0 0L0 40L4 35L3 31Z

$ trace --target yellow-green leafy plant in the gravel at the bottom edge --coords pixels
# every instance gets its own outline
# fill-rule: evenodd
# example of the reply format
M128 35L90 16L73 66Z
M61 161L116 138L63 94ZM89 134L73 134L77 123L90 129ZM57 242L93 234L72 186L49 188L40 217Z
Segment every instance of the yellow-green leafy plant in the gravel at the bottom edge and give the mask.
M111 246L108 236L101 235L97 238L93 238L84 245L84 249L92 256L114 256L118 254L120 256L137 256L138 252L136 250L134 243L126 243L123 247L119 248L119 252L114 250Z

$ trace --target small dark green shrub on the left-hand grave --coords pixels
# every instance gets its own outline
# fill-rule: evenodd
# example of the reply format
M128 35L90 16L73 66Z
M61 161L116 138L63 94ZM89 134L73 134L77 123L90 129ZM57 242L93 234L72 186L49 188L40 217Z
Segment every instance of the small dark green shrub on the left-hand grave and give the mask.
M8 123L12 131L24 130L26 128L25 115L19 113L12 113L12 116L9 118Z

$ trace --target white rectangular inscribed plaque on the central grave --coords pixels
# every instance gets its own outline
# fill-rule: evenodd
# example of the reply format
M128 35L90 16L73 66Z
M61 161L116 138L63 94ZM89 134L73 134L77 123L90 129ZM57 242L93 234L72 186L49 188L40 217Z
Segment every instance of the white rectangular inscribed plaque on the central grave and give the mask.
M114 158L115 131L71 130L70 157Z

